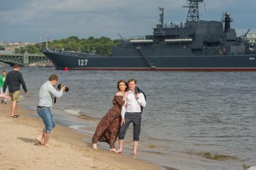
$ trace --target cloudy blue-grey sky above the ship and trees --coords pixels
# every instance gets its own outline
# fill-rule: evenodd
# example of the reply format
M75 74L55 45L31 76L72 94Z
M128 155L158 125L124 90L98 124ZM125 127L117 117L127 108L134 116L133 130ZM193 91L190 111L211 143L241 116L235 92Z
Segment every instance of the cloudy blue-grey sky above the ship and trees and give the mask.
M164 23L186 22L186 0L1 0L0 42L40 42L70 36L79 38L129 38L151 35L159 23L159 7L165 8ZM205 0L201 20L220 21L230 11L231 28L241 35L256 33L256 0Z

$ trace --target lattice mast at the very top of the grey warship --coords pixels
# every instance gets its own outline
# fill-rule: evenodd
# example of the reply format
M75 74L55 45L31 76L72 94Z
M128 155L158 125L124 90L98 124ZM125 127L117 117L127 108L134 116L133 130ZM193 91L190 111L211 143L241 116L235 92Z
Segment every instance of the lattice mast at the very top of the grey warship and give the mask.
M187 13L187 22L199 22L199 10L198 4L200 2L204 2L204 0L187 0L188 6L183 6L184 8L189 8L189 12Z

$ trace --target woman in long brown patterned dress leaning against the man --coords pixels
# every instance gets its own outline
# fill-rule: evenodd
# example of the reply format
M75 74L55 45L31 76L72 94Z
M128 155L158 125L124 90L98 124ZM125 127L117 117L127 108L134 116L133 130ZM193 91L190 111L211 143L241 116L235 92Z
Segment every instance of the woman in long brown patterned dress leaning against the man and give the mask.
M111 109L100 120L96 132L93 135L93 148L97 149L97 142L107 142L109 144L109 151L115 150L115 141L117 141L118 132L120 130L121 123L121 107L124 105L125 92L127 90L127 83L124 80L117 82L118 92L115 94Z

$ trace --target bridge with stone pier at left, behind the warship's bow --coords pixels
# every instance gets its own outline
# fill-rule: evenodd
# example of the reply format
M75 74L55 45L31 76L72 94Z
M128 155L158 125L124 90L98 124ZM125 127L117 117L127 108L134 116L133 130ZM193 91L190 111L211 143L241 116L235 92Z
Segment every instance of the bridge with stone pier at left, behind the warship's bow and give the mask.
M10 65L19 64L23 67L28 67L33 64L51 63L43 54L33 54L28 53L27 51L25 51L25 53L0 53L0 62Z

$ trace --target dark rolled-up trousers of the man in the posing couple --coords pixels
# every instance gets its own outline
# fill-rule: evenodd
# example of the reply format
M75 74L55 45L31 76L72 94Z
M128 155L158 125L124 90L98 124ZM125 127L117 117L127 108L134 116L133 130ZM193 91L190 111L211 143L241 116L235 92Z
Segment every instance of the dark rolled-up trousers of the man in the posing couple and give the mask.
M126 112L124 119L126 120L126 123L121 126L118 139L124 139L126 130L130 126L130 123L133 123L133 141L139 141L139 134L141 133L141 112Z

